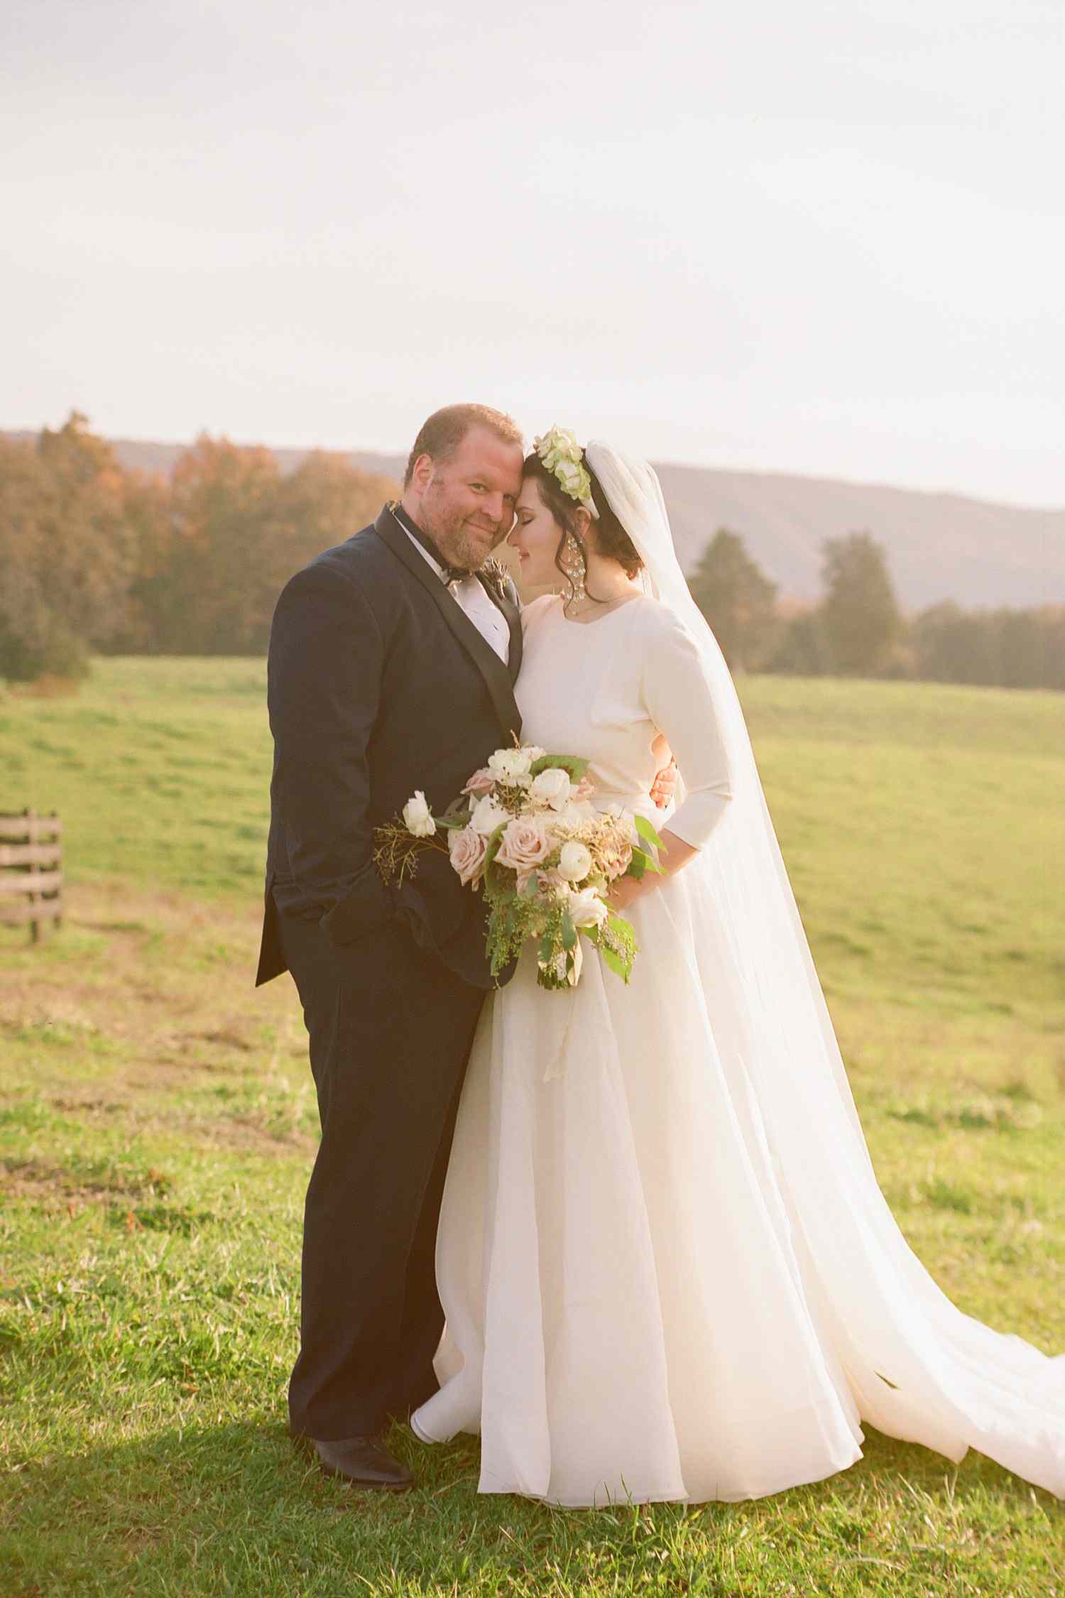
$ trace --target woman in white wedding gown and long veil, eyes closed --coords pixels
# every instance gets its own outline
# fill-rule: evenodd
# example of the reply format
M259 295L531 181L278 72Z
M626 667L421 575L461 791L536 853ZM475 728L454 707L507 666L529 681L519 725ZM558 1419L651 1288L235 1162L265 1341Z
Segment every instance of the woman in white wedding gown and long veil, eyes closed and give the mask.
M963 1315L877 1186L725 660L655 471L607 444L525 462L522 737L655 817L663 876L615 903L624 986L527 948L485 1004L437 1237L423 1441L481 1432L482 1493L747 1499L861 1457L861 1422L972 1446L1065 1496L1065 1357ZM664 738L682 783L645 797ZM661 743L659 743L661 748Z

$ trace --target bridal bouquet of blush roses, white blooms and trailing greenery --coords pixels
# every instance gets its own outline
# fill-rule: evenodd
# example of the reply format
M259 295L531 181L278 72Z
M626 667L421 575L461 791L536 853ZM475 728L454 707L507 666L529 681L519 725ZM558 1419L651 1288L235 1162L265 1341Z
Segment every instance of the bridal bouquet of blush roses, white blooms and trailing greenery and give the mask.
M607 893L618 877L661 871L661 839L642 815L589 804L588 764L533 745L497 749L444 815L418 791L402 820L378 826L374 863L385 882L402 882L420 850L445 849L460 882L484 888L493 976L533 938L540 986L575 988L588 938L628 983L635 935Z

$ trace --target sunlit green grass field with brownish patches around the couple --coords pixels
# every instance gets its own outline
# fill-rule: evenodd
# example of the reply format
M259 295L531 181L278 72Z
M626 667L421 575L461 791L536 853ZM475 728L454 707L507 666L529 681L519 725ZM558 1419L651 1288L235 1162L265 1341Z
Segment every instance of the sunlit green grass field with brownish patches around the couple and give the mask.
M0 810L65 823L57 936L0 928L0 1593L1065 1595L1065 1505L867 1433L758 1504L549 1510L292 1454L315 1149L287 978L254 992L259 662L105 660L0 698ZM1065 1349L1065 697L741 695L873 1160L968 1312ZM707 1218L711 1224L711 1218Z

